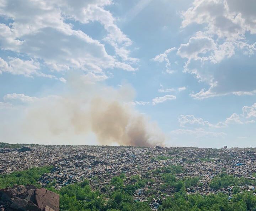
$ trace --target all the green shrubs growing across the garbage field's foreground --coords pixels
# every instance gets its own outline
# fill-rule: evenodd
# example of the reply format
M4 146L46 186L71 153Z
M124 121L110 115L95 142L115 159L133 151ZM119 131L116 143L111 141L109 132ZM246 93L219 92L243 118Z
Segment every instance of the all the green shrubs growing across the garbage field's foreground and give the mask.
M42 174L48 173L50 169L52 167L31 168L27 171L2 175L0 177L1 188L14 184L26 185L30 183L35 185ZM200 178L178 179L176 174L183 171L181 166L170 165L160 168L158 171L160 172L159 179L164 182L161 186L162 193L165 195L164 190L170 187L175 191L171 197L162 200L163 204L159 207L159 211L256 211L256 195L253 191L239 193L239 185L249 184L252 182L250 179L237 178L225 172L214 177L210 183L212 188L235 185L233 188L234 195L229 198L229 195L223 193L187 194L185 188L197 185ZM134 201L133 194L136 190L154 182L151 179L144 179L141 175L134 175L129 179L126 179L125 174L113 177L110 184L105 185L104 194L101 194L100 191L92 191L89 180L64 186L60 190L55 190L51 186L55 182L53 180L52 183L49 183L47 189L60 195L61 211L151 211L149 203L156 197L157 193L158 195L161 194L159 190L154 190L149 185L148 191L153 193L151 197L146 202Z

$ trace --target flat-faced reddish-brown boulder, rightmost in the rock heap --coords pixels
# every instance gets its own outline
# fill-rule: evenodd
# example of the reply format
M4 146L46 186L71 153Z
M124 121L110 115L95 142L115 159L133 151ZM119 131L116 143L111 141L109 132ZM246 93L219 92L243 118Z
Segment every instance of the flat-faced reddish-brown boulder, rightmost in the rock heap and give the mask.
M45 188L36 189L36 202L42 210L48 206L54 211L59 211L59 195Z

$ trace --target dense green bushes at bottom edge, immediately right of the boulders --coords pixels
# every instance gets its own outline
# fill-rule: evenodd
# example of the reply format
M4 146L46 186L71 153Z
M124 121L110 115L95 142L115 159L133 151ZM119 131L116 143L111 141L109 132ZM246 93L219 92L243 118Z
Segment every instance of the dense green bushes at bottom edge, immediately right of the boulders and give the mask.
M119 179L114 179L118 181ZM56 191L60 195L60 210L66 211L150 211L146 203L134 202L133 196L123 190L106 195L99 191L91 191L89 185L81 186L81 183L67 185Z

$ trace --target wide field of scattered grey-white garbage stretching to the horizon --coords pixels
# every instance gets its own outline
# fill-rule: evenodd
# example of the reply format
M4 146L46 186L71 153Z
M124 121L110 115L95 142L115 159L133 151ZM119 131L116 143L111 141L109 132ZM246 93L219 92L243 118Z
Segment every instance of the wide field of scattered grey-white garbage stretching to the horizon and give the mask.
M128 146L42 146L31 151L6 149L0 151L0 174L26 170L34 166L53 165L48 174L43 175L39 184L51 184L56 189L62 186L89 179L92 189L103 190L110 184L111 178L122 173L129 182L133 175L148 178L148 173L169 165L180 165L184 171L177 173L177 179L199 177L200 185L187 188L189 194L223 193L231 194L232 187L213 190L209 187L211 180L223 169L235 177L255 179L255 148L194 148L194 147L128 147ZM153 179L152 188L159 189L161 180ZM241 186L249 189L250 186ZM146 200L150 194L146 188L137 191L135 199ZM168 190L171 194L173 190ZM157 199L156 199L157 200ZM157 201L156 201L157 202ZM152 206L155 202L152 202ZM159 202L157 202L159 203ZM160 203L159 203L160 204Z

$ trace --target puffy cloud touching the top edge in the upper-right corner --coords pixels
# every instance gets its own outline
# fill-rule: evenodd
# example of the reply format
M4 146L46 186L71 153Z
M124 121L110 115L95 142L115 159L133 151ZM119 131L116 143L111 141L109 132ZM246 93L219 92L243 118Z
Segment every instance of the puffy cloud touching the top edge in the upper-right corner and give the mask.
M195 0L193 6L182 12L182 27L196 22L207 24L207 33L219 38L238 40L245 32L256 33L254 0Z

